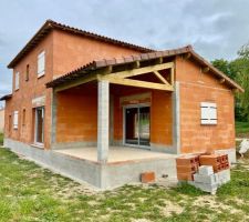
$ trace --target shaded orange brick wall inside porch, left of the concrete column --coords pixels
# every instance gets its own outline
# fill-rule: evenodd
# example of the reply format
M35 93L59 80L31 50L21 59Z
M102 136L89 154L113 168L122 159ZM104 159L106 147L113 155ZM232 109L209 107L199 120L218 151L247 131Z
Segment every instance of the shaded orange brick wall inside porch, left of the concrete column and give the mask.
M97 97L93 90L58 93L56 142L96 142Z

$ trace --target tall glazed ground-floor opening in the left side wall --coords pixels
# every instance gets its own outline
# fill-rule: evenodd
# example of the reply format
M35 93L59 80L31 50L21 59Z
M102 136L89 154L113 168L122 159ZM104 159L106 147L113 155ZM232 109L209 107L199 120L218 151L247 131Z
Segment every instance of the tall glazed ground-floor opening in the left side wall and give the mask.
M34 128L34 142L43 144L44 141L44 108L35 108L35 128Z

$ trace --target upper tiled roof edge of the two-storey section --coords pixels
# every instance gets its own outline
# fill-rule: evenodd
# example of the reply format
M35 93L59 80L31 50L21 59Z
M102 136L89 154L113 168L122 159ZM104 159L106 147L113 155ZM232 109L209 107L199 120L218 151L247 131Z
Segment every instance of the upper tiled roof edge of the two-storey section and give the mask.
M151 51L153 51L152 49L148 49L148 48L145 48L145 47L132 44L132 43L120 41L120 40L112 39L112 38L108 38L108 37L100 36L100 34L96 34L96 33L93 33L93 32L76 29L76 28L73 28L73 27L69 27L69 26L52 21L52 20L46 20L45 23L39 29L39 31L32 37L32 39L25 44L25 47L8 64L8 68L13 68L25 54L28 54L53 29L58 29L58 30L62 30L62 31L73 33L73 34L95 39L95 40L98 40L98 41L104 41L104 42L107 42L107 43L134 49L134 50L137 50L139 52L151 52Z

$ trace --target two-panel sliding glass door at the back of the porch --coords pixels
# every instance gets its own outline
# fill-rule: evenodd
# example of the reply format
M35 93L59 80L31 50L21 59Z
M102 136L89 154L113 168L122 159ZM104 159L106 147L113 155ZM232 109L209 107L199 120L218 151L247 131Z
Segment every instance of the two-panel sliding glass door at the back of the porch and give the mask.
M124 108L124 143L136 147L149 147L151 107L132 105Z

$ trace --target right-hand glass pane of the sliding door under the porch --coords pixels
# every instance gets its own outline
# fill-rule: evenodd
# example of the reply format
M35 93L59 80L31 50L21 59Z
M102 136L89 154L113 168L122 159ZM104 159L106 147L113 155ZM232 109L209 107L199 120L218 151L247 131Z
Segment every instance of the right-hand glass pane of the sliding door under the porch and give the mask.
M139 145L149 145L149 107L139 108Z

